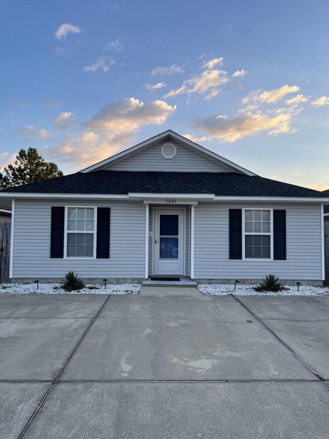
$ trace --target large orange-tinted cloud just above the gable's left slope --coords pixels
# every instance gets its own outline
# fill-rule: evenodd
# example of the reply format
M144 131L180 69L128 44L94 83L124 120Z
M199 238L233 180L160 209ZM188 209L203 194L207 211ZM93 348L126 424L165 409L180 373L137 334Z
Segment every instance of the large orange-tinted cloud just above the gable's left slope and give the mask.
M92 131L132 132L145 125L161 125L176 110L165 101L142 102L121 98L106 104L84 125Z

